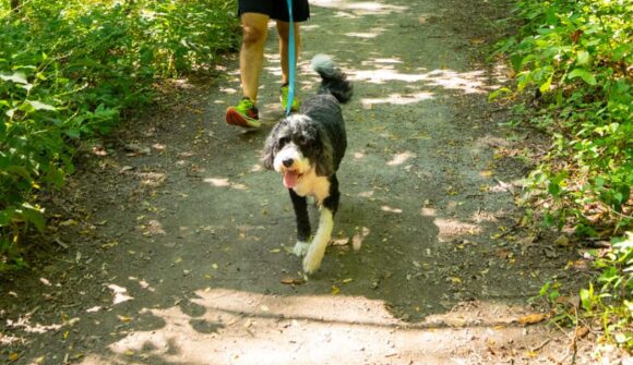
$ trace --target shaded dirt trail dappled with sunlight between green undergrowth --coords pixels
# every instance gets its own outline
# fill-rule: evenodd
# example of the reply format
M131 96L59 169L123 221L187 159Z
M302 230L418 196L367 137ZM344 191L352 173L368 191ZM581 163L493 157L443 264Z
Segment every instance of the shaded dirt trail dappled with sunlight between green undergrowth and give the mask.
M224 123L237 62L130 123L59 197L65 250L3 283L2 354L14 364L537 364L569 340L516 323L572 253L516 231L525 167L497 126L499 81L475 51L503 9L482 1L312 2L299 94L314 53L355 83L344 107L336 243L299 279L294 216L259 151L282 112L276 35L264 127ZM313 211L315 212L315 211ZM81 220L91 223L79 223ZM546 255L547 254L547 255Z

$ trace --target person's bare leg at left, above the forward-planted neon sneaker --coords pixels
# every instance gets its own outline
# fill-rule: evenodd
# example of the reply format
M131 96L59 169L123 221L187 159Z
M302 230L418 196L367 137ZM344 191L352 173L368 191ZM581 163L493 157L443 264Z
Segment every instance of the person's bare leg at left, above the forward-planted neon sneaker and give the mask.
M268 15L244 13L241 15L241 25L243 29L240 50L242 93L254 104L258 100L258 88L264 61L264 42L268 35Z

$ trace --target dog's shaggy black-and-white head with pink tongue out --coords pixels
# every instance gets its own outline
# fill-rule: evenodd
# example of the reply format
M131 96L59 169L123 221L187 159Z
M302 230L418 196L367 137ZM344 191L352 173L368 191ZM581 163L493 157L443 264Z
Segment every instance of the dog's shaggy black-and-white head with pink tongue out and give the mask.
M282 172L284 185L291 188L312 169L320 177L334 173L332 156L332 144L323 127L304 114L292 114L271 131L262 163Z

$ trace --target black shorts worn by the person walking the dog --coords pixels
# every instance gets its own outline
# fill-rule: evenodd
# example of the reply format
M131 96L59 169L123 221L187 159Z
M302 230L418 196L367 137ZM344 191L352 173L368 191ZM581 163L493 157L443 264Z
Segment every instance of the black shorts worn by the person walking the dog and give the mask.
M258 13L288 22L288 0L238 0L238 15ZM292 21L304 22L310 17L308 0L292 0Z

